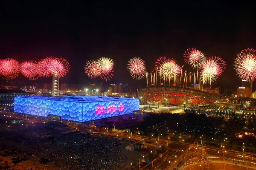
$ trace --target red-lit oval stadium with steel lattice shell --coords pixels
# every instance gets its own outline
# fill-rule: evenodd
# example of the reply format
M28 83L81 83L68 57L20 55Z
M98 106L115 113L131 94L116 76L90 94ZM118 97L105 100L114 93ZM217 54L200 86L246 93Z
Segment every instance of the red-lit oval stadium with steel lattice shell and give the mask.
M143 102L160 102L166 104L204 104L211 105L219 99L218 94L207 93L177 86L151 86L138 91Z

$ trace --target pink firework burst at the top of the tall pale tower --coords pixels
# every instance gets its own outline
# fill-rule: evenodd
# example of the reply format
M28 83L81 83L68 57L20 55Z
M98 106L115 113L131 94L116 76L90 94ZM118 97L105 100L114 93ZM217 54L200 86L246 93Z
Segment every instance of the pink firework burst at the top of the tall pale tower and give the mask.
M50 72L58 77L64 77L69 71L69 63L64 58L52 58L50 62Z

